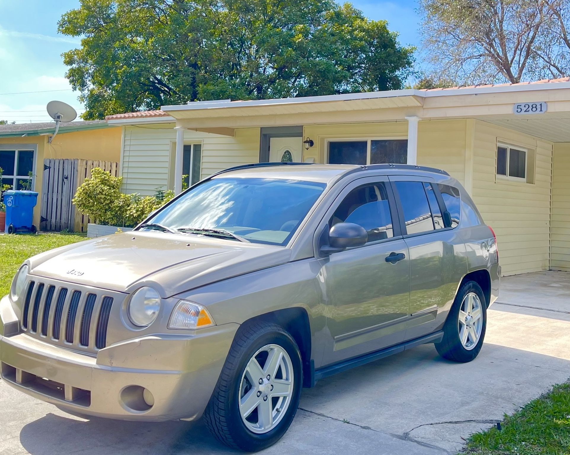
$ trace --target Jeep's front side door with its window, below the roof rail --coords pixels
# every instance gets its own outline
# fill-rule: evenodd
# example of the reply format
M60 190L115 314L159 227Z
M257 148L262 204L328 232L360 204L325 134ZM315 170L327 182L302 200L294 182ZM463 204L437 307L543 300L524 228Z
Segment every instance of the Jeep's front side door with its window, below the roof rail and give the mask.
M330 335L323 365L403 342L410 263L388 178L352 182L323 221L325 229L350 222L368 231L364 246L320 259Z

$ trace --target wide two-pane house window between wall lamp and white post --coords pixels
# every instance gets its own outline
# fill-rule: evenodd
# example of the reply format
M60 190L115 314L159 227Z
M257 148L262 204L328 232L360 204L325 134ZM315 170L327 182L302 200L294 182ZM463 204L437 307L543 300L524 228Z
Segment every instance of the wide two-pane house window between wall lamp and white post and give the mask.
M407 139L335 139L328 141L329 164L406 164Z

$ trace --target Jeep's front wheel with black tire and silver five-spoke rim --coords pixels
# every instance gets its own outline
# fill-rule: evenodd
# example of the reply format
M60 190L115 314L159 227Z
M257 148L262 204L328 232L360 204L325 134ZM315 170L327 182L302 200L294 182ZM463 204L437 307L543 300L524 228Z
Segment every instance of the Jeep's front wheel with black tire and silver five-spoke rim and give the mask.
M291 425L302 384L301 356L290 334L263 321L242 326L204 412L206 426L231 448L265 449Z

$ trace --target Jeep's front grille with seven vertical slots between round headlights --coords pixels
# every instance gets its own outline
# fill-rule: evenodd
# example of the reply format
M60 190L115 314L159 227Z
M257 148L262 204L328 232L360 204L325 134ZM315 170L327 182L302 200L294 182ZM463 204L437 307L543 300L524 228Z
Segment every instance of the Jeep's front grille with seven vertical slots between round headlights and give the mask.
M120 311L127 296L124 292L30 278L21 297L23 332L44 343L91 355L107 346L108 325L115 320L111 312Z

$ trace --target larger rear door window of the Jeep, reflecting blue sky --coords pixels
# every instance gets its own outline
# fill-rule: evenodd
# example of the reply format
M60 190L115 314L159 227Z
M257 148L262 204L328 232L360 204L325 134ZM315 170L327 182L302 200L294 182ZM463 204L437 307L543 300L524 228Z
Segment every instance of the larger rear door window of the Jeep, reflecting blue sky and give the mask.
M422 182L396 182L408 234L434 230L431 210Z

